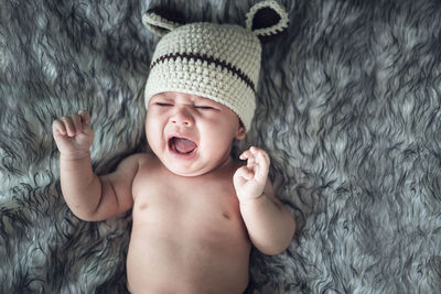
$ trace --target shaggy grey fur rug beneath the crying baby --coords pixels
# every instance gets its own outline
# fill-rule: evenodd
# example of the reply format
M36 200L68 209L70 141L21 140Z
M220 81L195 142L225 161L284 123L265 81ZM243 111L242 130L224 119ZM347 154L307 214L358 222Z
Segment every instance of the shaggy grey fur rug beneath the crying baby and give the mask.
M71 214L51 123L89 109L98 173L144 149L158 39L141 15L159 2L243 23L255 1L0 0L1 293L126 291L130 214ZM252 252L254 292L441 293L440 2L281 2L246 144L299 228L287 252Z

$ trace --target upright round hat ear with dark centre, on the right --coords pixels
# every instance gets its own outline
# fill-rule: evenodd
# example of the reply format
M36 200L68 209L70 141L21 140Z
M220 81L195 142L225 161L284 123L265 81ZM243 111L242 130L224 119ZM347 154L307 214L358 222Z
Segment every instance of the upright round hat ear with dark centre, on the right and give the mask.
M288 13L275 0L261 1L252 6L246 15L246 28L262 43L272 41L288 28Z

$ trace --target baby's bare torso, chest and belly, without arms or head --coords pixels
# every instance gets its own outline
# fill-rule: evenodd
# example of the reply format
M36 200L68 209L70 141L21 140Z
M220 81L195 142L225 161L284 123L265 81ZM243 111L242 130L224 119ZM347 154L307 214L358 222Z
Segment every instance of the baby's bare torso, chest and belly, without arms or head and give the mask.
M127 261L133 291L162 288L171 280L171 292L245 288L250 242L232 176L182 178L139 172Z

